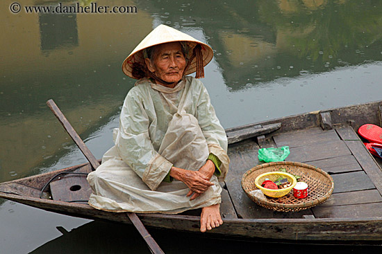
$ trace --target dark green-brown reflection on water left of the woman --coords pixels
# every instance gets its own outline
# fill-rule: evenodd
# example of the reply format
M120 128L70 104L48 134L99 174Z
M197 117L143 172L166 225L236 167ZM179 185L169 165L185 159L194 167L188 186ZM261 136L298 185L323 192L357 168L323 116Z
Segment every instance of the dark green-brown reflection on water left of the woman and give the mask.
M62 145L70 139L45 105L50 98L84 137L118 114L133 87L121 63L149 33L152 19L144 12L110 15L107 22L97 15L13 15L8 3L1 4L7 37L0 42L0 179L9 181L54 165L70 152ZM140 26L121 29L134 22Z

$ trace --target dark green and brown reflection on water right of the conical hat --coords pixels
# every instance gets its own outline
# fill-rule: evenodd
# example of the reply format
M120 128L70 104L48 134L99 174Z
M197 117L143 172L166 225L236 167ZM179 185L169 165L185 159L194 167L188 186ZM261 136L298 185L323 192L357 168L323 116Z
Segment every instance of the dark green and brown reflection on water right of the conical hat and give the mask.
M233 90L301 71L322 73L382 60L381 1L212 1L204 8L190 1L140 4L151 6L160 23L202 27Z

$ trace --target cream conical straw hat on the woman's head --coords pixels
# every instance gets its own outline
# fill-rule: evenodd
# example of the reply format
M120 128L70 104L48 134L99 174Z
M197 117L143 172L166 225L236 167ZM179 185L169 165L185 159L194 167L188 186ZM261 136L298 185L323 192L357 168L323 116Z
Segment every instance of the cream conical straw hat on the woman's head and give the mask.
M146 66L144 64L144 57L143 57L143 50L144 48L149 48L154 45L163 44L167 42L185 42L188 44L188 48L190 50L188 51L187 58L190 59L190 56L192 55L192 49L194 46L197 46L197 44L201 45L201 53L203 55L203 66L206 66L210 60L213 59L213 49L208 46L207 44L204 44L203 42L199 42L197 39L194 39L194 37L190 35L186 35L185 33L182 33L174 28L171 28L169 26L160 25L147 35L136 48L134 48L133 52L131 52L130 55L124 60L122 64L122 71L128 77L133 77L133 74L131 73L133 69L133 64L138 62L142 64L143 66ZM192 60L190 66L188 67L187 71L185 72L185 75L194 73L197 70L197 63L196 59ZM137 79L137 78L135 78Z

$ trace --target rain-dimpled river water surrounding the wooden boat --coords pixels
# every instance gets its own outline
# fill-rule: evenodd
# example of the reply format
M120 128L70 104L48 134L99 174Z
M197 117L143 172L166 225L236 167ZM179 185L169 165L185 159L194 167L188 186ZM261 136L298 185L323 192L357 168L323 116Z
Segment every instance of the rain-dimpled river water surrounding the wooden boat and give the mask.
M214 49L202 81L225 128L382 99L382 1L78 1L92 2L137 12L13 14L13 1L1 1L0 182L85 162L45 105L50 98L101 158L134 84L122 61L159 24ZM0 253L149 253L131 226L3 199L0 228ZM151 233L167 253L360 251Z

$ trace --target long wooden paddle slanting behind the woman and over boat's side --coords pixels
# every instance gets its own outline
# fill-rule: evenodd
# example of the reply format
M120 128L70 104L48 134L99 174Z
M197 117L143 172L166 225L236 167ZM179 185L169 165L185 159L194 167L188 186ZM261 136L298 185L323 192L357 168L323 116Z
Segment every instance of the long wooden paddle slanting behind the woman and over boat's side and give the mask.
M97 167L99 167L99 162L94 157L92 152L90 152L89 148L83 143L83 140L78 136L72 125L70 125L67 118L65 118L63 112L60 111L60 109L57 107L56 103L53 102L53 100L47 101L48 107L53 111L53 114L58 118L61 125L63 125L65 131L67 131L67 134L74 140L74 143L78 146L78 148L81 150L83 155L88 159L90 162L90 165L92 165L93 170L96 170ZM164 253L160 246L155 242L153 237L149 234L147 229L142 224L142 221L140 221L140 218L134 213L134 212L126 212L128 219L131 220L131 223L137 228L140 235L142 235L144 241L147 243L147 245L150 248L151 253L160 254Z

